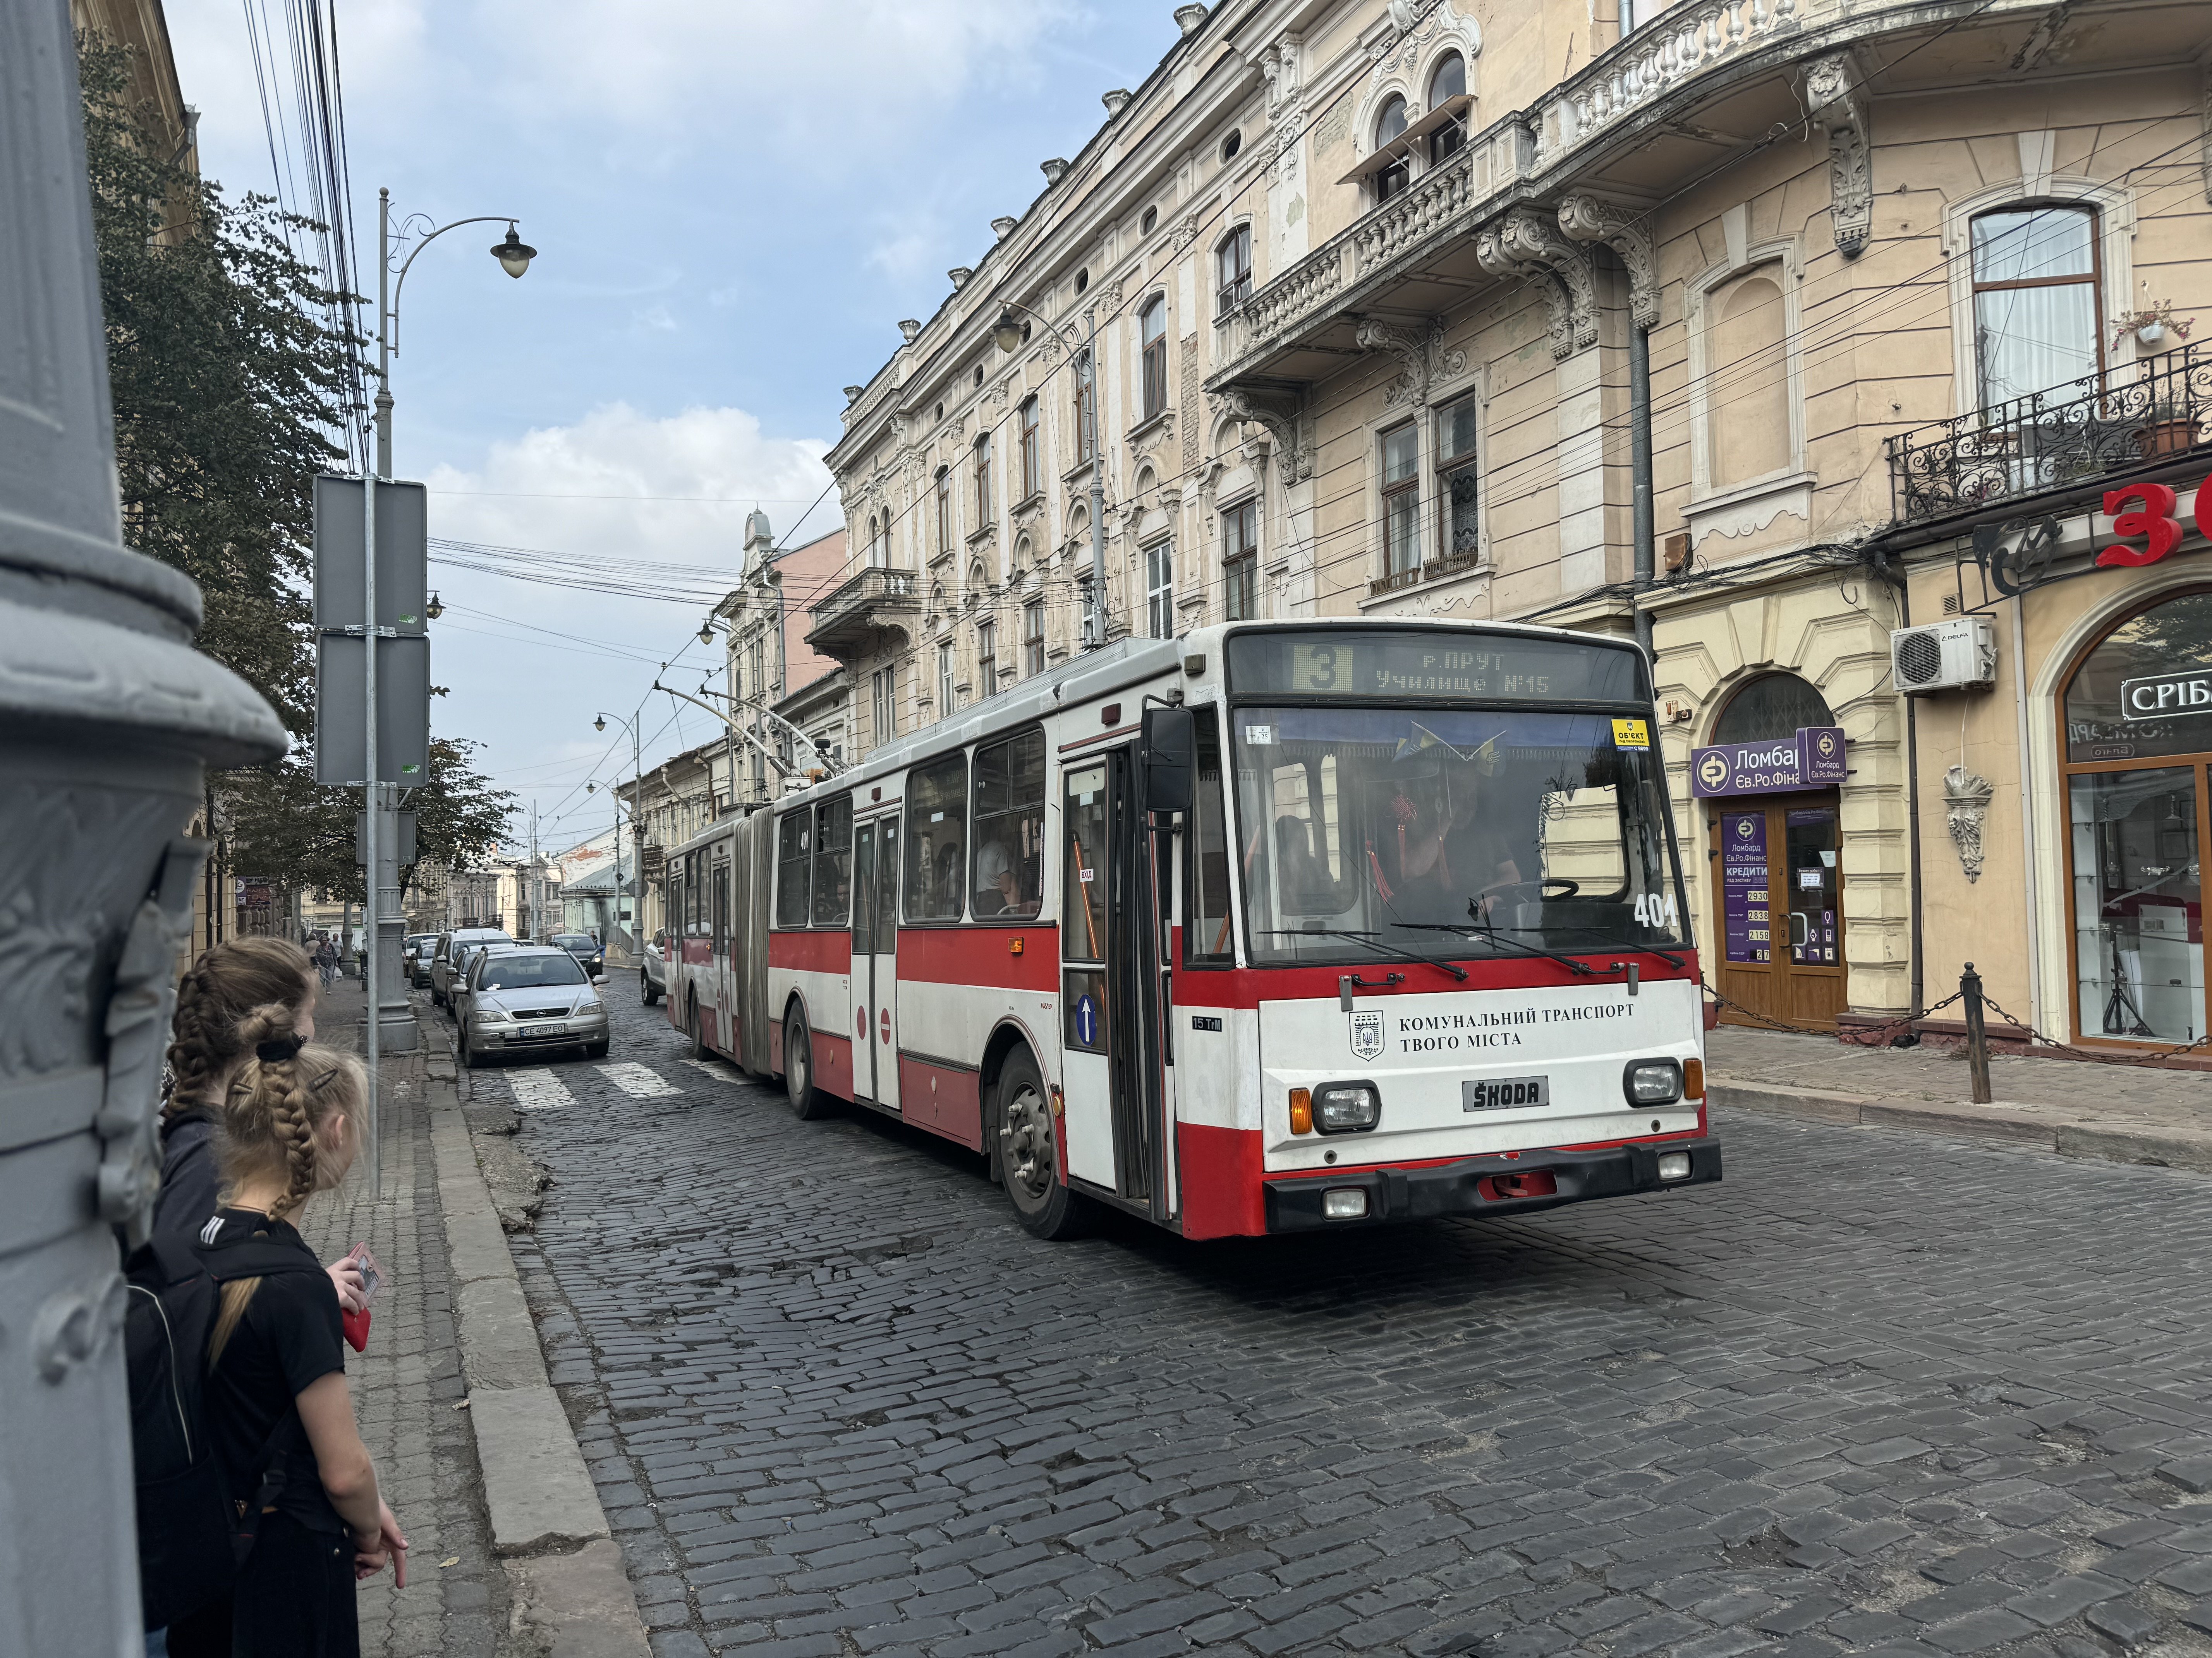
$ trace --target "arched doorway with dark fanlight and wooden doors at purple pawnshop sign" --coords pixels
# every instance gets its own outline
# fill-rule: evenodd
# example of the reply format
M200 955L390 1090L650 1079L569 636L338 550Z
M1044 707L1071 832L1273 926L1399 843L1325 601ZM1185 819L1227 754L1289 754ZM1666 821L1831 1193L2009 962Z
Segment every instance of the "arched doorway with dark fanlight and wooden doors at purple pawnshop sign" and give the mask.
M1759 674L1721 707L1710 743L1792 743L1834 725L1812 681ZM1705 800L1712 982L1752 1015L1832 1030L1845 1008L1840 805L1834 787ZM1721 1019L1759 1024L1728 1004Z

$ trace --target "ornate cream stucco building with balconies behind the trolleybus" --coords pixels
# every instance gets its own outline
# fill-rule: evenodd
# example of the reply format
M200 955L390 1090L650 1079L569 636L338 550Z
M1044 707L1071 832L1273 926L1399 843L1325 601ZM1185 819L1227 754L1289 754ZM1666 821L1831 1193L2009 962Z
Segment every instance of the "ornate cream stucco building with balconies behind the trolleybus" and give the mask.
M863 749L1082 648L1097 495L1108 634L1641 632L1745 1008L1889 1037L1975 959L2053 1037L2205 1035L2212 13L1177 20L847 389L810 639ZM1712 772L1801 732L1840 780Z

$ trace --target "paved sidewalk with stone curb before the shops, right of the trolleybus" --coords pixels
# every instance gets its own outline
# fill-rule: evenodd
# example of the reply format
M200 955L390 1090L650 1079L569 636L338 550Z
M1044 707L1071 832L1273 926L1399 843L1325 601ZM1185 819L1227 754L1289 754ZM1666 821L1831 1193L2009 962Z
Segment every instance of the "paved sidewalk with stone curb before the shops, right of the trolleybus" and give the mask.
M2212 1079L2203 1072L1991 1054L1989 1081L1995 1103L1969 1105L1960 1048L1858 1048L1745 1026L1705 1037L1708 1099L1723 1110L2212 1172Z

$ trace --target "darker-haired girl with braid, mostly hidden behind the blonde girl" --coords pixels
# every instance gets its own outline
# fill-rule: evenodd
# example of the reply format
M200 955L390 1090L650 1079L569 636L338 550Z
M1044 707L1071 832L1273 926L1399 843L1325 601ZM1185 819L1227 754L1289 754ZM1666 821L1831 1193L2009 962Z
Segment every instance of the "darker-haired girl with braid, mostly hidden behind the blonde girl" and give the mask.
M177 984L168 1099L161 1103L161 1194L155 1231L195 1234L215 1214L215 1119L261 1046L314 1041L314 966L296 944L241 937L199 953ZM361 1269L330 1267L338 1304L367 1307Z

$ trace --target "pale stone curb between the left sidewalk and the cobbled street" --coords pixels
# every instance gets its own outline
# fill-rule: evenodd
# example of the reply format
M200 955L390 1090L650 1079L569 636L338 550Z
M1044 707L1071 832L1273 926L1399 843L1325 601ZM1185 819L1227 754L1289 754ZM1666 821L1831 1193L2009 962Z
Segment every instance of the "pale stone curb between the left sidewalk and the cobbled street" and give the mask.
M491 1552L513 1592L513 1634L544 1658L650 1658L622 1550L546 1377L507 1234L476 1165L442 1030L425 1030L438 1200L469 1426L484 1475Z

